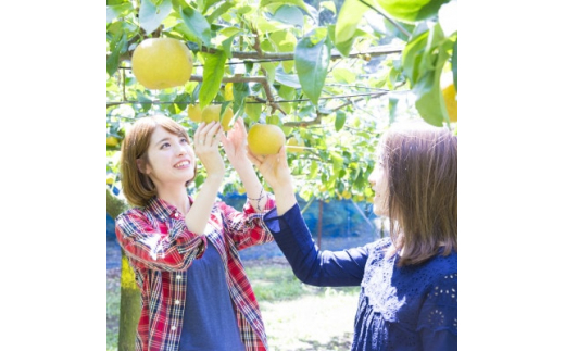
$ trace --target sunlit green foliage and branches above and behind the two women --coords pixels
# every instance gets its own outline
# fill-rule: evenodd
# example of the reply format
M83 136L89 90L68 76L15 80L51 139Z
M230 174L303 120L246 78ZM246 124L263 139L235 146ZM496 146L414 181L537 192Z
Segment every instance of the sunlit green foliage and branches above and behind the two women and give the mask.
M276 124L304 142L303 153L289 153L303 199L368 200L374 151L390 123L449 125L440 80L457 82L457 33L445 20L456 0L430 3L407 21L377 0L108 0L106 181L120 188L120 142L136 118L162 113L191 135L188 104L229 103L248 127ZM131 53L149 37L176 38L192 51L184 87L137 83ZM242 191L234 173L222 190Z

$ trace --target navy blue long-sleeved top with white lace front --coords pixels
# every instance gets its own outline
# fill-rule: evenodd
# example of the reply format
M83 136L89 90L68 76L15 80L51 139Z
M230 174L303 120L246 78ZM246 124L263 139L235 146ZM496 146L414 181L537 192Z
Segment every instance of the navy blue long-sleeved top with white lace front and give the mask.
M300 208L264 217L294 275L315 286L360 286L351 350L457 349L457 254L398 267L385 259L390 238L343 251L319 251Z

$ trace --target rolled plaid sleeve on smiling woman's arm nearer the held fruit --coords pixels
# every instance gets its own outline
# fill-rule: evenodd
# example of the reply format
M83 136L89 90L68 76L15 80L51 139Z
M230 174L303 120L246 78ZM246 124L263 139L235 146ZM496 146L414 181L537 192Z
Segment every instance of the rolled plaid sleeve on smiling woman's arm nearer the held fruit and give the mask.
M268 192L266 197L267 202L261 212L256 212L249 200L241 212L222 203L226 234L231 237L238 250L274 240L273 235L263 223L263 216L275 208L275 198Z

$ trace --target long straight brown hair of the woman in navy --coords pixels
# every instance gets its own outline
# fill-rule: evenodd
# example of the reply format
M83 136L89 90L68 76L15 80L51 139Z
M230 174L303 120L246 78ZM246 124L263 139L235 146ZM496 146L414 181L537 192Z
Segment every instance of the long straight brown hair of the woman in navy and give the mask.
M457 137L447 127L399 123L379 142L390 237L399 265L457 250ZM392 254L393 251L389 251Z

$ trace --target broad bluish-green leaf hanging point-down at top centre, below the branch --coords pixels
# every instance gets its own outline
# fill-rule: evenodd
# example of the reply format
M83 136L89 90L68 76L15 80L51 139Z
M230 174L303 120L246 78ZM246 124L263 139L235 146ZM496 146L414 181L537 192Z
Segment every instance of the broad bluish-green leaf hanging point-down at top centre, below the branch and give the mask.
M318 28L312 35L302 38L294 51L294 65L302 91L312 100L314 105L318 104L319 95L328 73L330 57L329 38L326 36L326 40L317 41L322 32L319 29L325 28Z

